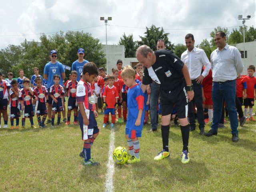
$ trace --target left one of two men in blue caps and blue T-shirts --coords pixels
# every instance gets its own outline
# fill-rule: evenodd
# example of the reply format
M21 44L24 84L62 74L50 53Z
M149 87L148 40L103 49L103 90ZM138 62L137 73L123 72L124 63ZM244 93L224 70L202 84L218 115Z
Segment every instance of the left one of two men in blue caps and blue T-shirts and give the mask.
M58 52L56 50L52 50L50 52L51 61L44 66L44 79L47 80L48 92L50 92L50 87L54 85L54 81L53 81L54 75L58 74L60 76L61 86L63 86L63 80L65 79L65 70L62 63L57 61L57 54ZM51 116L52 116L52 98L49 97L47 123L50 121Z

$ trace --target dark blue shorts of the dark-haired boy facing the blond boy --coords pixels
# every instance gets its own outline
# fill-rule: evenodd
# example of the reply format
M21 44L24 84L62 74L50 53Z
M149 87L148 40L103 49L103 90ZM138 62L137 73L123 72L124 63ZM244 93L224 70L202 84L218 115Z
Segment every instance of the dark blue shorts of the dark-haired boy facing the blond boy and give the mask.
M79 120L79 124L80 124L80 129L82 132L82 140L91 139L94 134L100 132L100 129L98 128L93 111L90 110L89 125L88 125L88 129L86 130L88 138L84 138L84 122L83 122L83 117L82 117L81 113L78 113L78 120Z

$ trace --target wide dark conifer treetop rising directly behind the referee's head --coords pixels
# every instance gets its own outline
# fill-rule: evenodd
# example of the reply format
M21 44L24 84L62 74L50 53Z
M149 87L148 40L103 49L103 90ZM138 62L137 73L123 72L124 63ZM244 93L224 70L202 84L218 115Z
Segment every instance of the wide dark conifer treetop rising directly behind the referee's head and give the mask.
M150 28L146 27L146 32L144 32L145 36L140 36L140 41L137 41L137 46L141 45L147 45L152 50L156 50L156 44L158 39L162 38L164 39L164 42L166 44L166 49L173 50L174 44L171 44L169 41L168 35L169 33L164 33L164 29L160 27L156 27L152 25Z

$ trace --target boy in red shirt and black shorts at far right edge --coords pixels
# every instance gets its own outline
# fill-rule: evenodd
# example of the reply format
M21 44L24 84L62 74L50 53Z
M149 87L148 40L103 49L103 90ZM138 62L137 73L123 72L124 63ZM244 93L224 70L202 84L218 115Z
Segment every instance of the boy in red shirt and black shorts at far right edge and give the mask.
M254 65L250 65L247 68L248 75L244 77L247 84L247 98L244 99L244 115L247 116L248 106L249 106L249 118L246 121L255 121L252 117L252 107L254 106L254 100L256 98L256 78L253 76L255 72Z

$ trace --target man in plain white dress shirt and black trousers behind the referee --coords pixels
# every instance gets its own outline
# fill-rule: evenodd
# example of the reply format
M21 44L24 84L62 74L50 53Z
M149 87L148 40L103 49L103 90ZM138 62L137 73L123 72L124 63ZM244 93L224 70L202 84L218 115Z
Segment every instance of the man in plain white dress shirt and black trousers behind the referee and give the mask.
M197 108L197 119L199 123L200 134L204 134L204 110L202 99L202 81L208 75L211 68L204 50L195 47L195 40L192 34L185 36L187 50L182 53L181 60L188 66L188 72L194 88L194 98L188 103L188 117L190 120L190 131L196 129L194 118L194 107ZM205 66L202 72L202 64ZM202 74L201 74L202 73Z

